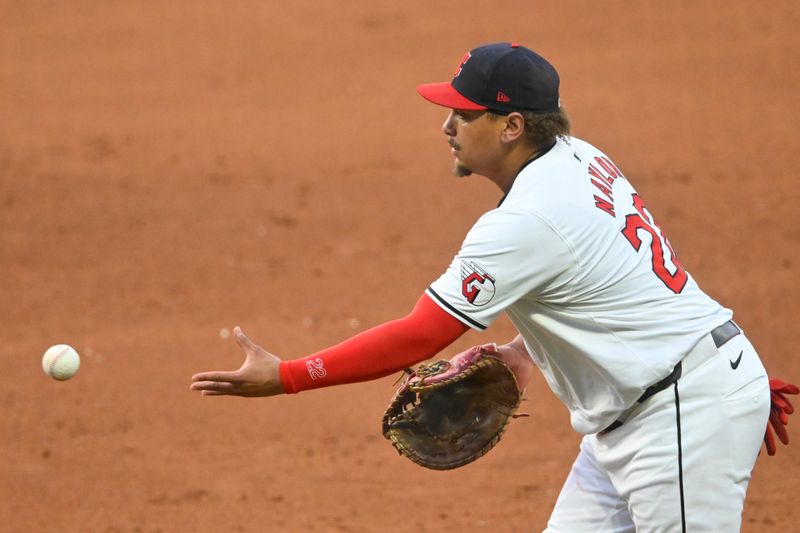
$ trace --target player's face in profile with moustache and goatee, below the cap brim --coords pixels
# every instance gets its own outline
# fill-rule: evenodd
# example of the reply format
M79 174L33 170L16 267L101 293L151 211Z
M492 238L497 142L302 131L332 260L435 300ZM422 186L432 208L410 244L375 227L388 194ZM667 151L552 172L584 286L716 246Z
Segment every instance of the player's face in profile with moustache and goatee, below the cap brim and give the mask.
M453 109L442 124L442 132L455 157L453 174L473 172L490 176L501 155L500 132L503 122L492 120L486 111Z

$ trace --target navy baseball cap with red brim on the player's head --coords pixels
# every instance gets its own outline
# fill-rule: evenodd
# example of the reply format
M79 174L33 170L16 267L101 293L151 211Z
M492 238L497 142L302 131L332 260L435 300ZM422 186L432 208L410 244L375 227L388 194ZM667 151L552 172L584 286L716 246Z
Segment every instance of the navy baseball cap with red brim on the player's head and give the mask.
M419 85L417 92L451 109L551 113L561 106L558 83L553 65L533 50L493 43L464 54L452 81Z

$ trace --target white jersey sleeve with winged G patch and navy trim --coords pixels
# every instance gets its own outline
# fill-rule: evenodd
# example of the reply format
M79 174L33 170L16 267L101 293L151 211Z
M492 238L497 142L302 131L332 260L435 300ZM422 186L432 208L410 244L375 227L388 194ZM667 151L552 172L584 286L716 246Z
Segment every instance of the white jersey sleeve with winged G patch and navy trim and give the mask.
M428 296L467 326L486 329L520 298L565 283L575 256L540 215L496 209L478 220Z

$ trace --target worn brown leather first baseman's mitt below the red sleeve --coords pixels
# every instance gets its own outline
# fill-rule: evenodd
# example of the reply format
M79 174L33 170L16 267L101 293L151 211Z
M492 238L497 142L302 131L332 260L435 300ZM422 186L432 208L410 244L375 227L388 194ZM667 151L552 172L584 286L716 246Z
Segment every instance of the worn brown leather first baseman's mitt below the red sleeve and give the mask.
M450 361L422 364L383 415L383 436L418 465L458 468L500 440L520 390L497 346L475 346Z

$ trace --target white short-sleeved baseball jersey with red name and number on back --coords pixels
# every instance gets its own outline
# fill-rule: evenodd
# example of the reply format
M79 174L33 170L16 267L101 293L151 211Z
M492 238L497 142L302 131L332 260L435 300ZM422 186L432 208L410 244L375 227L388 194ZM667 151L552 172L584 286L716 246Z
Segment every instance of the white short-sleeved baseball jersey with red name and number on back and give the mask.
M479 330L505 311L585 434L732 317L683 269L617 166L576 138L521 170L427 293Z

